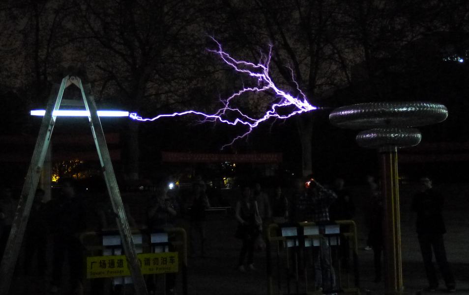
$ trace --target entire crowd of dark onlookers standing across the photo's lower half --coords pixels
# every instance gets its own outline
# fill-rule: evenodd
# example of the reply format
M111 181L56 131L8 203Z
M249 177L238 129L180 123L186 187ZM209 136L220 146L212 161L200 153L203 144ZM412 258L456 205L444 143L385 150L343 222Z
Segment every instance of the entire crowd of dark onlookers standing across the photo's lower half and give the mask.
M420 183L421 189L415 195L411 208L417 213L418 241L429 281L427 290L433 291L439 286L432 262L434 253L447 290L454 292L455 280L446 259L442 238L445 233L441 215L443 198L432 189L430 179L422 178ZM365 249L373 249L375 282L380 282L382 279L383 200L379 185L372 176L367 177L367 184L365 225L368 229L368 240ZM70 286L76 294L80 294L83 292L83 278L80 269L84 260L84 247L79 240L79 235L85 230L87 224L85 220L87 207L82 198L77 198L75 184L72 179L63 179L60 181L60 185L61 193L59 197L47 203L44 201L44 191L40 188L36 191L24 239L25 263L21 267L25 274L29 274L31 271L30 262L34 258L33 256L36 255L37 272L40 276L46 275L45 246L47 245L48 234L50 234L53 241L50 293L54 294L59 291L62 281L62 267L66 257L70 269ZM356 213L355 203L352 194L344 187L345 182L343 179L336 179L332 186L326 187L312 177L296 180L292 193L288 196L283 193L281 187L277 187L273 190L273 195L269 197L257 182L242 187L241 195L234 206L237 221L234 236L242 241L237 264L238 271L256 270L254 252L256 248L262 249L265 247L265 229L271 222L313 221L321 224L331 220L353 219ZM191 254L195 254L196 249L199 249L200 256L205 257L205 213L206 209L210 208L206 188L205 182L199 178L192 184L190 194L181 199L168 193L168 184L165 181L160 181L155 193L148 200L144 218L146 220L145 226L150 230L172 227L175 226L176 218L181 215L187 216L190 223L189 249ZM98 227L101 230L116 228L117 215L109 197L103 197L99 203L99 206L96 206ZM16 207L17 201L13 198L11 190L7 187L1 188L1 256L5 250L13 224ZM128 206L125 205L124 209L130 226L137 228L137 223L130 214ZM347 225L341 225L341 232L349 230L350 228ZM173 241L174 237L170 235L169 240ZM349 267L349 248L348 239L342 237L339 257L344 268ZM174 248L170 250L174 250ZM326 291L335 290L336 277L329 245L326 242L321 242L320 247L313 247L312 251L316 284L322 286ZM156 282L154 277L150 276L146 281L148 289L154 290ZM174 293L175 284L176 275L166 275L166 294ZM94 294L102 293L102 285L99 283L92 284L91 289Z

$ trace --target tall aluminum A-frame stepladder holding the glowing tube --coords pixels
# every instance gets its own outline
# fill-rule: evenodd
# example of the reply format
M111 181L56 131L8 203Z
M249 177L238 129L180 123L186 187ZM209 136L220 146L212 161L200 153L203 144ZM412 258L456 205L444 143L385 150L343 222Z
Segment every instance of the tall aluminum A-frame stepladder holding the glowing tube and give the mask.
M125 251L125 255L128 259L128 265L130 273L132 275L132 281L135 287L137 295L147 295L147 287L145 280L140 269L140 265L135 251L135 245L132 241L132 234L129 228L127 217L125 216L124 206L120 197L119 188L117 186L116 175L109 156L109 150L106 145L104 138L104 132L101 125L101 121L97 114L96 103L94 96L91 92L91 86L86 79L85 75L84 82L75 74L74 70L70 70L69 74L62 79L61 83L54 84L49 97L49 103L46 108L46 113L42 119L39 135L37 137L34 153L32 160L29 165L28 173L26 176L25 185L21 191L18 208L16 210L15 219L11 228L10 236L5 248L5 253L0 265L0 295L7 295L11 280L13 277L13 271L15 269L16 261L21 247L21 242L28 222L29 213L31 211L34 193L37 188L37 183L42 172L44 159L49 147L49 143L52 136L52 131L56 123L57 116L53 115L54 110L58 110L62 101L63 92L66 87L71 84L75 84L81 90L84 106L89 112L88 119L91 127L91 131L94 137L94 143L98 151L99 161L103 170L104 179L106 186L111 197L111 203L114 212L117 215L117 225L119 228L120 238ZM63 76L62 76L63 77Z

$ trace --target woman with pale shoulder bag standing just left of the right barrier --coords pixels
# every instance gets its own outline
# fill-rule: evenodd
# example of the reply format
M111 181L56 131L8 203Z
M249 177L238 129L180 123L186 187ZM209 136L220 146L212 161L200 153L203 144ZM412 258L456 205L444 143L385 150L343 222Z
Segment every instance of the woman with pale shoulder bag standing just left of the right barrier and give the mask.
M245 187L241 198L236 202L236 220L238 221L235 237L243 241L239 252L238 270L246 271L244 258L247 255L247 265L254 268L254 244L261 233L262 219L259 215L259 207L252 196L251 189Z

